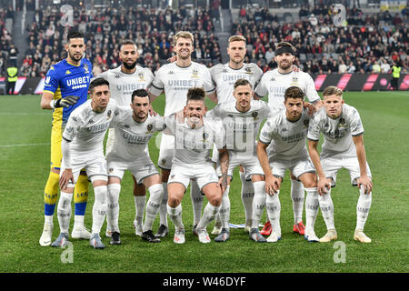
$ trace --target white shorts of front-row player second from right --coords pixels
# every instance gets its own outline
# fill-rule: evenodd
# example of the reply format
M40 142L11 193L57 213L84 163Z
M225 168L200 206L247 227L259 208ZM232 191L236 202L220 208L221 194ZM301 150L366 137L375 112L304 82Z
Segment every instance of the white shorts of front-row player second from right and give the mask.
M284 179L285 170L289 169L297 178L305 173L315 173L314 164L309 157L295 158L292 160L276 159L270 163L274 176Z

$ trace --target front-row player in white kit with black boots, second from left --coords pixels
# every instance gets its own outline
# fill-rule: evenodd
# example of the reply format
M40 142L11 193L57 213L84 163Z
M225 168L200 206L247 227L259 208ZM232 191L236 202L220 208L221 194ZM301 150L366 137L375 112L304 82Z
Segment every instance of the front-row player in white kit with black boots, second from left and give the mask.
M152 233L152 226L162 203L164 187L147 147L155 131L164 129L164 121L159 115L149 115L149 107L147 91L135 90L131 98L132 109L118 106L118 115L111 124L115 128L115 139L112 150L106 155L109 198L106 217L112 230L111 245L121 244L118 226L119 193L125 170L130 170L137 183L145 185L150 193L142 238L152 243L160 242Z

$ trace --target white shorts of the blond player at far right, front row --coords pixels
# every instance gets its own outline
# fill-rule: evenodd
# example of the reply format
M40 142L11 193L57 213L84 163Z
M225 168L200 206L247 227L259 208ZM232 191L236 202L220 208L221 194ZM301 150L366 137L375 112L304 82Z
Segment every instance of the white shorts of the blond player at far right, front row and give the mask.
M361 176L361 171L359 169L359 162L356 156L326 156L321 160L321 165L323 166L325 176L333 179L331 186L335 186L336 174L343 167L349 171L351 184L353 186L357 186L356 180ZM366 173L372 179L371 170L368 163L366 163Z

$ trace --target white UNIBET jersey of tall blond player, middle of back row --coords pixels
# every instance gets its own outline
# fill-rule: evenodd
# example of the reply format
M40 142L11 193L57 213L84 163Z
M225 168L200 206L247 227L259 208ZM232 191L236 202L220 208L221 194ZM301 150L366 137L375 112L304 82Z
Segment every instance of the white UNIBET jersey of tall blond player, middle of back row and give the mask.
M214 92L209 69L195 62L186 67L174 62L159 68L149 91L155 96L165 91L165 116L169 116L185 107L187 90L192 87L203 87L206 95Z

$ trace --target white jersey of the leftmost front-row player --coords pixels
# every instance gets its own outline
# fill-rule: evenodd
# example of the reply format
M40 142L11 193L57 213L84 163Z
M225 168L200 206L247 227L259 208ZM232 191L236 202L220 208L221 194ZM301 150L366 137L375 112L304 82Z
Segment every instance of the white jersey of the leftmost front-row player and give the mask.
M70 149L77 155L104 156L105 133L117 113L117 106L115 100L110 100L105 111L97 113L91 101L88 99L71 113L63 138L71 142Z

